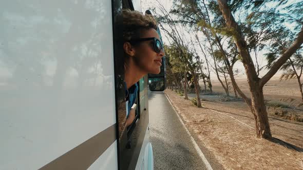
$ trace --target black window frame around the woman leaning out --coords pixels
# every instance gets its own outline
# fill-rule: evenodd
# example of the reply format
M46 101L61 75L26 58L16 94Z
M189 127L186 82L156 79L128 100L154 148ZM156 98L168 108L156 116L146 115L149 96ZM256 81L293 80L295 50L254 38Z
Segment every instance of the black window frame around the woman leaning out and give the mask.
M116 121L117 121L117 147L118 147L118 169L135 169L137 162L140 161L139 154L146 136L148 127L148 96L147 96L147 75L144 76L144 93L145 108L140 112L140 91L137 92L137 114L135 120L131 123L129 131L125 127L126 120L126 103L125 103L125 83L124 83L124 58L123 51L119 50L121 45L118 39L122 37L121 30L116 29L115 16L121 12L123 8L132 7L131 0L112 0L112 20L113 20L113 36L114 36L114 61L115 61L115 93L116 93ZM138 82L137 82L138 83ZM140 84L138 83L138 89ZM142 87L141 87L142 88ZM139 102L138 102L139 101ZM147 103L147 104L146 104ZM124 119L121 119L124 117ZM124 124L124 126L123 126ZM124 127L124 128L123 128Z

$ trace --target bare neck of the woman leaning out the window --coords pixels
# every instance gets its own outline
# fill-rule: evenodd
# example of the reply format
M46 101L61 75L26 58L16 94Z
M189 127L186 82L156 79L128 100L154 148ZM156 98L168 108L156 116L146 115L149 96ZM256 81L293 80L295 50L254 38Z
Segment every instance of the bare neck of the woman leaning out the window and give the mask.
M145 74L135 64L132 59L129 59L124 66L124 80L126 82L127 89L138 82Z

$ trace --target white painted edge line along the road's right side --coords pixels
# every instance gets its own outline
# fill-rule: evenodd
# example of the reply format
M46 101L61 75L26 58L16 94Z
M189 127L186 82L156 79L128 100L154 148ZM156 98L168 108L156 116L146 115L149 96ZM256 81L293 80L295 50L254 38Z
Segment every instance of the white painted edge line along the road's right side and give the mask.
M164 94L165 94L165 93L164 93ZM165 94L165 97L167 98L167 100L169 101L169 103L171 103L171 105L172 105L174 111L176 112L176 115L178 116L180 122L181 122L182 125L184 126L184 129L185 129L186 133L187 133L188 135L190 135L191 141L192 141L192 143L194 144L195 149L196 149L197 153L199 154L200 158L202 159L203 163L205 164L207 170L213 170L213 168L212 168L210 162L207 161L206 157L205 157L204 154L202 153L200 147L199 147L198 144L196 143L196 141L195 141L195 139L193 138L193 136L191 135L190 131L187 130L185 124L183 123L181 117L180 117L179 114L178 114L178 111L175 109L175 107L174 107L174 105L172 104L171 100L168 98L168 96L167 96L166 94Z

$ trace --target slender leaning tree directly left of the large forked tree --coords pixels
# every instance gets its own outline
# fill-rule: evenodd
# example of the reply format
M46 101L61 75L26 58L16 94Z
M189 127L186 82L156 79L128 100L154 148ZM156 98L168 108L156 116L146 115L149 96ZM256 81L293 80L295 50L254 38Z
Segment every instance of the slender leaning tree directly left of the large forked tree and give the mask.
M211 21L211 17L209 14L209 9L207 9L207 5L204 0L202 1L194 1L194 0L175 0L174 9L171 10L172 13L175 13L176 15L180 16L180 19L175 20L177 23L182 23L184 25L190 25L190 26L196 26L197 29L200 29L202 33L205 35L207 41L209 42L209 46L211 48L211 56L214 59L214 66L215 71L217 74L217 78L219 82L221 83L224 91L227 95L229 95L229 90L224 86L223 81L220 79L220 76L218 74L218 68L217 63L214 56L214 51L216 50L213 46L217 45L218 49L221 51L222 56L224 58L224 63L226 67L228 68L228 72L233 84L233 88L237 90L239 94L243 94L243 92L239 89L237 86L237 83L234 78L233 73L233 67L232 62L229 59L229 55L226 54L226 51L223 49L223 45L221 42L222 37L218 35L218 33L221 33L222 35L229 35L228 32L226 32L224 29L221 29L220 26L223 24L223 18L222 17L214 17L214 20ZM214 6L212 5L212 2L210 3L208 8ZM218 12L219 8L214 6L213 11ZM218 15L219 16L219 15ZM216 29L218 27L218 29ZM229 35L230 36L230 35ZM237 60L234 60L235 62ZM244 95L241 95L244 96Z

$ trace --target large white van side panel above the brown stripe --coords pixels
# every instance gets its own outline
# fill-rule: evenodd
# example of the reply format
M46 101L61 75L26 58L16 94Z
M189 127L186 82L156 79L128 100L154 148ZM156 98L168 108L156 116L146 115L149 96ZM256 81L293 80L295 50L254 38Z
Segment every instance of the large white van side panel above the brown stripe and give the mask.
M0 3L0 169L37 169L116 123L111 1Z

